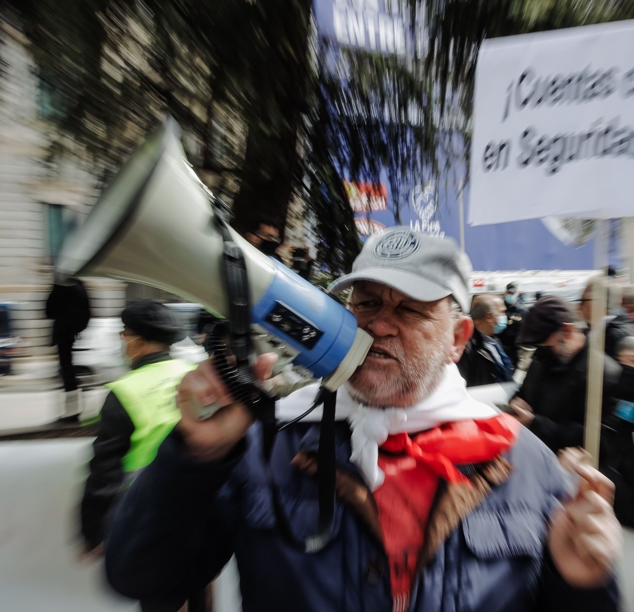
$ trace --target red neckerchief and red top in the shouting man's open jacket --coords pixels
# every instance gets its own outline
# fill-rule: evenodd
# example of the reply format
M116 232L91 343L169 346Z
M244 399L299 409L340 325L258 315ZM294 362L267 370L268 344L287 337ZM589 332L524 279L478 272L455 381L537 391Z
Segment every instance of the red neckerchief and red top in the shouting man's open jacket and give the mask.
M519 423L508 414L484 421L455 421L413 438L387 438L378 455L385 481L374 492L389 559L394 612L404 612L424 544L439 480L470 481L456 465L491 461L514 445Z

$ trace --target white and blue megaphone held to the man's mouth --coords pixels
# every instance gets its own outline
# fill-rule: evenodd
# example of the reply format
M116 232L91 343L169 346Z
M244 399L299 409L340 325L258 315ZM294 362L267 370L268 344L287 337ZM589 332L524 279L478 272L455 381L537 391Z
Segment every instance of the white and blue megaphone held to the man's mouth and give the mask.
M180 133L168 116L139 146L65 242L56 271L149 284L228 317L214 196L186 160ZM278 371L293 367L339 388L372 337L336 300L229 231L245 257L256 351L276 352Z

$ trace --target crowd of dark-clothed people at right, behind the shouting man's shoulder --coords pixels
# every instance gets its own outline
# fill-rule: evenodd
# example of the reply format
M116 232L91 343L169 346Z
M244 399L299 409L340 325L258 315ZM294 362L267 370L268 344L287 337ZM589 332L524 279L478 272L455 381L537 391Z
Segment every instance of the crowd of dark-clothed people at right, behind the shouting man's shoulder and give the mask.
M607 293L607 310L602 326L594 330L597 286ZM634 287L623 287L611 277L593 277L578 303L546 295L531 309L518 305L517 290L516 283L508 284L505 312L498 296L472 300L475 331L458 362L460 372L468 386L510 381L517 359L513 362L507 352L516 356L526 348L534 350L508 407L553 452L581 447L590 337L604 335L600 469L616 484L619 520L634 526Z

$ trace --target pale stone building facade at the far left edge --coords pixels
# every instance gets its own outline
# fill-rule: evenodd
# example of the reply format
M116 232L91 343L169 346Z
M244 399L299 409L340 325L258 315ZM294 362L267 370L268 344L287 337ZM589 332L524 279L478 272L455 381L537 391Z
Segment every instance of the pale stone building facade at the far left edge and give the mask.
M0 302L10 303L13 332L22 338L15 373L55 369L51 321L44 307L56 250L65 230L81 222L96 198L81 151L51 167L51 126L38 109L37 77L23 34L0 23ZM86 279L94 316L118 316L126 285Z

